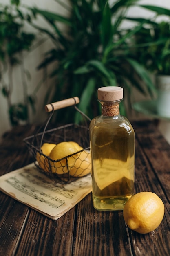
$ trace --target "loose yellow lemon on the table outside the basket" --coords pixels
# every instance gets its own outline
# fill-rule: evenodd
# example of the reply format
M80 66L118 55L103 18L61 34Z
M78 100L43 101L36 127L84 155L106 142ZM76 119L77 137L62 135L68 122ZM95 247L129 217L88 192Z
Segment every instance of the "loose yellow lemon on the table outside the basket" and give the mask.
M146 234L160 225L164 216L164 204L155 193L139 192L126 202L123 216L130 229Z

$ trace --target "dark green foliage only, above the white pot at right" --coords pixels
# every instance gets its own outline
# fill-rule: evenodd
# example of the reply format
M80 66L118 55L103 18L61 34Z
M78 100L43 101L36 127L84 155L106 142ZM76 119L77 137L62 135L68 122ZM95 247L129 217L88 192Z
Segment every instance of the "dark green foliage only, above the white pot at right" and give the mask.
M170 74L170 22L153 22L149 28L137 32L136 43L143 44L136 51L137 59L148 71L155 74ZM149 42L157 42L154 45Z

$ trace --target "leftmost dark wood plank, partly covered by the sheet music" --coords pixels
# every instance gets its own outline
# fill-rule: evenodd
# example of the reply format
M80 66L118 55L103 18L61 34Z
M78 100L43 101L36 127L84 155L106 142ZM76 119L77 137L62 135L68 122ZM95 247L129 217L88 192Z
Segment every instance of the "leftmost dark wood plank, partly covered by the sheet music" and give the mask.
M0 144L0 175L31 162L23 143L25 134L30 132L30 127L23 126L4 134ZM15 255L28 215L29 207L0 192L0 255Z

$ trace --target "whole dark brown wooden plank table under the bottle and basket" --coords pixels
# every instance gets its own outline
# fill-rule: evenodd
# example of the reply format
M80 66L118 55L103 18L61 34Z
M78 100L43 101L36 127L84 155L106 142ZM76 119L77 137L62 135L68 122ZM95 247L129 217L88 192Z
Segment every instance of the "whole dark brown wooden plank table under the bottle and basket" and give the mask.
M91 194L58 220L51 220L0 192L0 255L4 256L169 256L170 145L152 122L133 123L136 134L135 192L157 193L165 204L161 225L138 234L122 211L99 212ZM31 163L22 139L34 126L14 128L0 144L0 175Z

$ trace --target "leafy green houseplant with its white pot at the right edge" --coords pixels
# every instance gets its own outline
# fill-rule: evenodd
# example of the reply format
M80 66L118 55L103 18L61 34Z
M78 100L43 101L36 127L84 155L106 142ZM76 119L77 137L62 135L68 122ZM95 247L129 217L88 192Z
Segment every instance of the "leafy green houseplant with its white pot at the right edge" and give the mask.
M135 54L144 67L155 75L157 114L170 117L170 10L153 6L149 8L157 15L148 27L135 34L135 41L139 45ZM158 15L166 15L169 19L157 22Z

